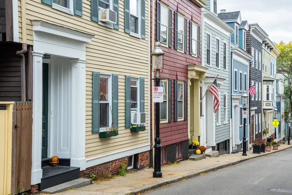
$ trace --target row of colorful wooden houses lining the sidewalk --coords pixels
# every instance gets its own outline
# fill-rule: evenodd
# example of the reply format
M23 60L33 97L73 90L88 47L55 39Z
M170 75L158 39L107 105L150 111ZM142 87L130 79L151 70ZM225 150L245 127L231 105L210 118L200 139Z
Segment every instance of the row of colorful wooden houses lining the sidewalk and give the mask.
M164 52L160 121L152 101L156 41ZM253 138L276 135L274 106L284 112L275 43L240 11L217 13L217 0L0 0L0 51L7 145L0 151L7 178L0 194L117 174L121 163L153 167L156 122L162 165L186 160L193 140L206 152L239 152L241 96L255 83L256 95L245 102L248 149ZM214 114L208 88L216 77ZM283 130L274 138L284 138ZM59 157L58 179L52 156Z

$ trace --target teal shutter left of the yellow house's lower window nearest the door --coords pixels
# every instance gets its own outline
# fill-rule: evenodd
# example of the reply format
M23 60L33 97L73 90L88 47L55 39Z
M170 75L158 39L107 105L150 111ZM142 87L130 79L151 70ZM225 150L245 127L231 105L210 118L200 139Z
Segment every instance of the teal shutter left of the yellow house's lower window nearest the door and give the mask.
M99 82L100 74L92 73L92 129L91 133L99 133Z

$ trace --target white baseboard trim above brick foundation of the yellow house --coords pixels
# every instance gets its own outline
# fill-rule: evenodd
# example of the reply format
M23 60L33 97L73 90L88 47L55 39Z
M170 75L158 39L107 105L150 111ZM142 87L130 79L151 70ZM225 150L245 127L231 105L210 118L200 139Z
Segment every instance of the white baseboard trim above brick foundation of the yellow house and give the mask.
M146 152L150 150L150 144L146 144L144 146L138 146L135 148L114 152L108 155L97 156L93 158L86 159L86 168L99 165L105 162L110 162L111 160L119 159L125 156L131 156L135 154L139 154L142 152Z

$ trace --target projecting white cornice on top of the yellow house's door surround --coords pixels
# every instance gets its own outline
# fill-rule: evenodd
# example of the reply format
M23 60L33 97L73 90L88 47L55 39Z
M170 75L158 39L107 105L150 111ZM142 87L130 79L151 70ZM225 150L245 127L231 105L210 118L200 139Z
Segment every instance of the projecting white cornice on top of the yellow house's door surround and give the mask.
M79 41L87 42L87 43L90 43L91 39L93 39L94 37L94 35L71 30L71 29L64 28L62 26L57 26L55 24L51 24L51 23L44 22L41 20L31 20L31 22L33 24L34 32L49 33L49 34L57 35L60 37L79 40Z

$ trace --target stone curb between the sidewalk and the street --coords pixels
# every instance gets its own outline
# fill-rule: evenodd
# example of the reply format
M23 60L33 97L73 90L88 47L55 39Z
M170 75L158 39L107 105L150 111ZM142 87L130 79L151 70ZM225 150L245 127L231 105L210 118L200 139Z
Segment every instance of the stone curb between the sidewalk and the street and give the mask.
M273 152L270 152L270 153L260 154L258 156L251 156L251 157L248 157L248 158L237 160L235 162L230 162L230 163L227 163L227 164L224 164L224 165L215 166L215 167L212 167L212 168L207 168L206 170L203 170L203 171L199 171L199 172L195 172L195 173L187 173L184 176L168 178L168 179L166 179L164 181L158 181L154 185L153 184L148 184L148 185L144 185L144 186L138 187L135 190L133 190L132 192L127 192L124 195L142 194L142 193L145 193L146 191L154 190L154 189L160 188L160 187L162 187L164 185L168 185L168 184L171 184L171 183L176 183L176 182L181 181L183 179L189 179L189 178L192 178L192 177L200 176L200 174L202 174L202 173L210 173L210 172L213 172L215 170L223 169L223 168L226 168L226 167L230 167L230 166L239 164L241 162L245 162L245 161L250 160L250 159L254 159L254 158L257 158L257 157L267 156L267 155L270 155L270 154L273 154L273 153L281 152L281 151L286 150L286 149L291 148L291 147L292 147L292 145L287 147L287 148L284 148L284 149L274 150Z

